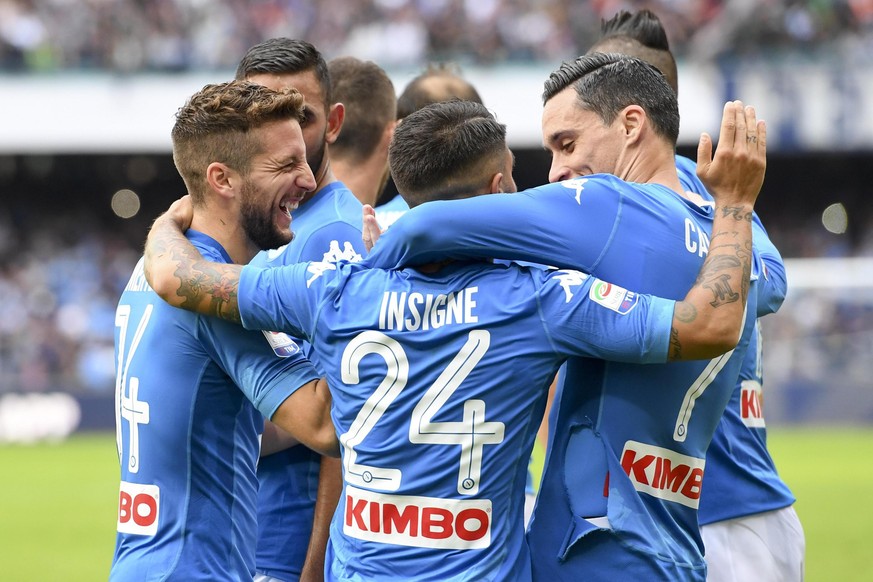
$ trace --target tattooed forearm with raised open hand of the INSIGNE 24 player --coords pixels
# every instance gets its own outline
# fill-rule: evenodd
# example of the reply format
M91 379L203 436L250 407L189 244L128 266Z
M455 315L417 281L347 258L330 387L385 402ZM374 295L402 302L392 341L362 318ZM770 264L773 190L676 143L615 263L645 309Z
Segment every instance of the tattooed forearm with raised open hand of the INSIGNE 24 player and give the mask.
M706 261L673 312L671 360L712 358L739 339L749 295L752 212L766 153L766 125L739 101L725 104L715 158L710 137L700 138L697 174L715 198L715 220Z

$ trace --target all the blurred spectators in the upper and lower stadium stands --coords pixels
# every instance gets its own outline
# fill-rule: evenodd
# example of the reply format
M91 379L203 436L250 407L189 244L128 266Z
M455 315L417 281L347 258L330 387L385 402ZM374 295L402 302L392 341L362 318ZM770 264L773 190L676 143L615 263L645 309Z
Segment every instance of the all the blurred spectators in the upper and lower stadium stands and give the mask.
M873 63L873 0L0 0L0 71L226 70L272 36L384 67L558 62L592 43L601 17L643 7L661 16L680 58L823 51ZM113 391L115 305L140 242L58 215L0 215L0 395ZM786 258L873 256L873 224L853 245L820 224L769 228ZM801 395L786 396L799 416L815 406L822 379L869 383L873 289L864 293L798 293L768 324L782 362L768 370ZM860 410L873 419L868 404Z

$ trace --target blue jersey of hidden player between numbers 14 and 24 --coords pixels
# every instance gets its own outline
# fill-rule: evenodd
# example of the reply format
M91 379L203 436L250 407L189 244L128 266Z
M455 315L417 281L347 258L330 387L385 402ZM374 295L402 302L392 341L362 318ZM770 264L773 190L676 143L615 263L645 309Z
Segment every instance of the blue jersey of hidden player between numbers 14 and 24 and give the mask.
M302 261L360 260L361 203L341 182L328 184L292 213L294 239L281 249L264 251L258 266ZM301 342L304 353L324 373L318 355ZM296 446L261 459L258 465L259 572L285 582L300 577L312 533L321 457Z

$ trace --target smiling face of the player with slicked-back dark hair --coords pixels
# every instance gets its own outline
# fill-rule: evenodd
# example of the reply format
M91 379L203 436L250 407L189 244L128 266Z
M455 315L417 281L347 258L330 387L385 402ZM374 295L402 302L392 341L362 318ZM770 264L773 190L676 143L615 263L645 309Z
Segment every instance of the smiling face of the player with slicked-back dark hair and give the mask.
M599 115L580 107L572 86L546 102L542 128L543 145L552 154L549 182L617 173L620 127L605 125Z

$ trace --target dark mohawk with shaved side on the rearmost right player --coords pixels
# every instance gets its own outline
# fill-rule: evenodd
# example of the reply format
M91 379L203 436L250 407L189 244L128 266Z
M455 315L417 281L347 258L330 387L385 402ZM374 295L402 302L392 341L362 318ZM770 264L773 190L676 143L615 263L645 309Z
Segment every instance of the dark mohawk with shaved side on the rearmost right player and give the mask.
M651 10L621 10L609 20L601 20L600 40L589 53L621 53L646 61L664 74L674 92L679 91L676 59L661 19Z

